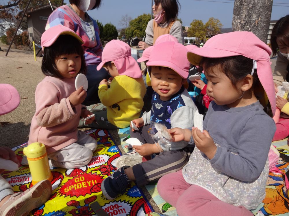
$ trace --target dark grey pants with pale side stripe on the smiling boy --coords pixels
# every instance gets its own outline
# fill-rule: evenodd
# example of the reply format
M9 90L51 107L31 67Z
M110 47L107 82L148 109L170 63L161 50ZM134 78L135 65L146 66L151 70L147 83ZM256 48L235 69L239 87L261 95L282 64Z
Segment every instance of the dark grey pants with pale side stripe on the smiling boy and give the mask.
M130 137L137 138L142 143L152 143L152 145L155 145L153 139L147 133L149 128L150 125L145 125L134 132L132 132L130 128ZM177 172L186 165L188 160L189 156L183 149L163 151L153 159L132 167L136 184L138 186L146 185L150 181L158 180L163 175Z

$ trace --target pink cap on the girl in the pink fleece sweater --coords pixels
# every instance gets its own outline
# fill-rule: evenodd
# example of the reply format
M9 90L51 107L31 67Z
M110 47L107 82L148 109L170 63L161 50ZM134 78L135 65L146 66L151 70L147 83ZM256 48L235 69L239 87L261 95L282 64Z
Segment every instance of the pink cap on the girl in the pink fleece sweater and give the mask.
M41 48L51 46L59 37L59 35L71 35L75 37L79 43L83 44L83 40L74 31L63 25L56 25L47 29L41 36Z

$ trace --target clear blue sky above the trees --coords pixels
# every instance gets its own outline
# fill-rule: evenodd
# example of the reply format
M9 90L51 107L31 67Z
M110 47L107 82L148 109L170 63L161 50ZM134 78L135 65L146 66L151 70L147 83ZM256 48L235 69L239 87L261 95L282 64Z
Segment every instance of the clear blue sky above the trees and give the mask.
M64 2L69 4L68 0L64 0ZM286 3L284 5L288 7L273 6L271 20L278 20L289 14L288 0L273 0L273 2L273 5ZM232 26L234 0L179 0L179 3L181 4L181 10L178 18L181 18L184 26L190 26L190 23L194 19L202 20L206 23L210 17L219 19L223 24L223 28L230 28ZM98 19L103 25L111 22L116 28L123 27L119 24L119 20L125 14L134 19L144 13L151 14L151 0L103 0L98 10L88 11L88 14L92 18Z

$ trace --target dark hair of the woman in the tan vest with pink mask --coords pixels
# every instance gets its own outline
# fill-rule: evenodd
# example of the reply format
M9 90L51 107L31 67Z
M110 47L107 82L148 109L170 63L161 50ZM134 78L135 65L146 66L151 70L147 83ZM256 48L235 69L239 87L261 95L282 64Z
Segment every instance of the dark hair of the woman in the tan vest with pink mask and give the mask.
M155 7L157 8L159 4L165 12L166 22L175 20L179 14L180 3L178 0L155 0Z

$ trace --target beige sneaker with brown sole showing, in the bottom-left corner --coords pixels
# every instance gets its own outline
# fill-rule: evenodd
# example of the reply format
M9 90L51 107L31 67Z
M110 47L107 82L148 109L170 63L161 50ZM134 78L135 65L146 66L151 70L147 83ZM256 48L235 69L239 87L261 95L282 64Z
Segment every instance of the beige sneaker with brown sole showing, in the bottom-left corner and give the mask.
M12 196L0 207L1 216L26 216L35 208L44 204L52 191L49 180L38 182L25 192L12 194Z

